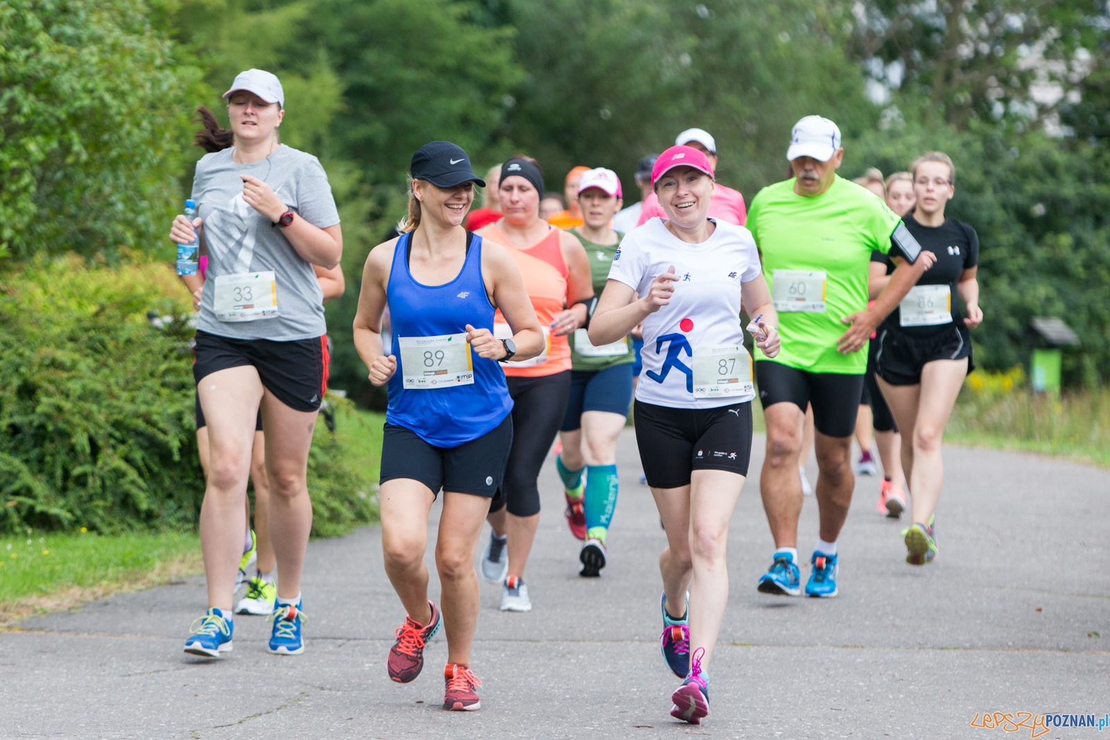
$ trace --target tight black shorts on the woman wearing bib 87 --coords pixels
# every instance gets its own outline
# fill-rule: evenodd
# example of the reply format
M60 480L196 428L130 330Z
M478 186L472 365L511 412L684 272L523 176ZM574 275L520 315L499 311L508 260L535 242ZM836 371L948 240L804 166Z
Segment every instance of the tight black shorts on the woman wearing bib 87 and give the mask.
M694 470L748 474L751 403L717 408L670 408L637 401L636 445L647 485L689 485Z

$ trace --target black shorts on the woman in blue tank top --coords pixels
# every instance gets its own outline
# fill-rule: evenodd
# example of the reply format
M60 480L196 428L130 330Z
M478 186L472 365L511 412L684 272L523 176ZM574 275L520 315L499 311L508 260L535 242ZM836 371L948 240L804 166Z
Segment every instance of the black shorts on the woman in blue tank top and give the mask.
M382 434L381 481L408 478L424 484L435 496L441 490L448 490L493 498L504 483L505 463L512 446L511 415L477 439L457 447L436 447L412 429L386 422Z

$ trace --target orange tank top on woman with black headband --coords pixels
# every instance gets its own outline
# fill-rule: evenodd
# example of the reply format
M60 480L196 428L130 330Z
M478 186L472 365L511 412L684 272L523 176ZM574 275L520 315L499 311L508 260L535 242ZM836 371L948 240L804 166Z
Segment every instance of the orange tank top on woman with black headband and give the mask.
M527 291L528 297L532 300L532 307L536 311L539 326L549 332L555 314L566 307L566 276L569 268L563 257L561 236L563 232L558 229L552 229L546 236L526 250L514 246L495 223L480 229L476 233L482 239L497 242L513 255L513 260L521 271L521 276L524 278L524 290ZM501 311L494 314L495 330L496 324L507 326ZM571 345L567 343L566 336L554 336L548 333L546 362L525 367L512 364L502 365L502 367L505 368L505 375L509 377L543 377L562 373L571 369Z

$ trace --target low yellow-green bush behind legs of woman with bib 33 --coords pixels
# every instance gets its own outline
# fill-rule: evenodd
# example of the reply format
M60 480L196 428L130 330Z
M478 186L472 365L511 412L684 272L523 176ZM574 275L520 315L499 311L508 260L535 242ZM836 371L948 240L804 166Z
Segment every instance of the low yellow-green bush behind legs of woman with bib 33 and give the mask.
M0 531L195 527L204 484L190 307L162 263L40 259L0 276ZM160 331L149 310L179 318ZM347 406L341 418L355 413ZM372 520L355 465L367 454L317 425L314 535Z

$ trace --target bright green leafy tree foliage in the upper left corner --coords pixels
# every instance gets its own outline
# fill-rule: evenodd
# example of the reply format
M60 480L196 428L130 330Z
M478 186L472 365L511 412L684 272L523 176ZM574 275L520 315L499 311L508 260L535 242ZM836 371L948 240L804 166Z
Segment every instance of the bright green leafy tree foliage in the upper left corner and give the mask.
M0 3L0 247L112 259L164 236L203 92L157 16L143 0Z

